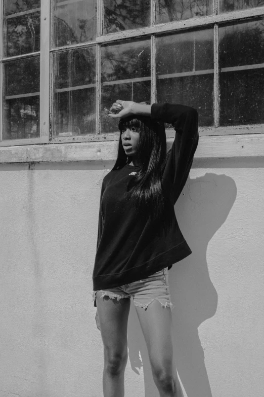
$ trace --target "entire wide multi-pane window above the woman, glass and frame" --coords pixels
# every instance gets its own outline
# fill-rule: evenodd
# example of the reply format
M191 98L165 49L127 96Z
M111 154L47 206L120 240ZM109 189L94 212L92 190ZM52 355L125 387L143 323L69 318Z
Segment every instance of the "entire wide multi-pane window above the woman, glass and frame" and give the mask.
M0 2L2 146L116 139L117 98L194 106L205 135L263 131L264 0Z

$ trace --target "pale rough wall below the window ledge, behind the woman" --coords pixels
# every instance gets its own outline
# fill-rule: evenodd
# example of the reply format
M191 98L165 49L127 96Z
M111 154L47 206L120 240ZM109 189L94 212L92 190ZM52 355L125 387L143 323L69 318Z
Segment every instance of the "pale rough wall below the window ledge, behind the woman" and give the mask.
M99 195L113 163L0 165L0 397L102 397L91 302ZM188 397L261 397L263 159L196 160L175 206L193 254L169 285ZM158 397L134 305L125 397Z

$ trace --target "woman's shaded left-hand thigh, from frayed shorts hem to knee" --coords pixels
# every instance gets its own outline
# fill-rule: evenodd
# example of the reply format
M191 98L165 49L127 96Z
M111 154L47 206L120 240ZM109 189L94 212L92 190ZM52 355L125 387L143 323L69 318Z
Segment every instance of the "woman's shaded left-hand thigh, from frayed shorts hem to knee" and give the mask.
M117 300L96 293L97 313L105 352L122 355L127 347L127 322L130 298Z

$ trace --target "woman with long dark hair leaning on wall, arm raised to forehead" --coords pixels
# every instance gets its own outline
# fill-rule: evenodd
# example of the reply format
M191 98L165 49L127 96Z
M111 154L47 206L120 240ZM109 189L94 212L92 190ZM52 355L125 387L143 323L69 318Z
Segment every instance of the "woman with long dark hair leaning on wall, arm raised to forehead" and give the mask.
M117 100L118 156L104 177L93 300L104 345L104 397L124 397L133 298L160 397L183 397L174 365L168 270L192 253L175 218L198 145L198 114L180 104ZM175 129L166 154L164 122Z

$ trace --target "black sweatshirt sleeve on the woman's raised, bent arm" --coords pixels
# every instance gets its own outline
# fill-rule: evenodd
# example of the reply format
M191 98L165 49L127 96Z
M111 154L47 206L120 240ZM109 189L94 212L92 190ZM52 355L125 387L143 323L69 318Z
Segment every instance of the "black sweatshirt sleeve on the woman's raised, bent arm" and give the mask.
M172 190L175 204L186 184L198 146L198 113L190 106L153 103L151 120L170 123L175 130L162 176L162 185L165 189Z

